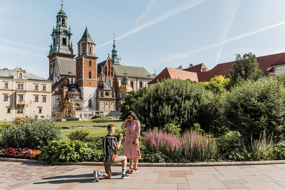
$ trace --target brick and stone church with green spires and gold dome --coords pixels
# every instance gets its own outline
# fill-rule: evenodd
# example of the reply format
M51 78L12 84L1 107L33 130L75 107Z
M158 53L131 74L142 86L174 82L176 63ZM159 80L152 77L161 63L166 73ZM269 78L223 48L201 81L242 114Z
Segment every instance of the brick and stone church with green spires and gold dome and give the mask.
M63 5L62 5L63 6ZM49 80L52 81L52 114L58 118L80 117L80 113L100 114L118 112L119 104L132 90L147 86L156 76L143 67L122 66L115 49L111 57L98 63L96 44L85 28L74 54L71 28L61 7L52 30L49 58ZM109 54L108 54L109 55Z

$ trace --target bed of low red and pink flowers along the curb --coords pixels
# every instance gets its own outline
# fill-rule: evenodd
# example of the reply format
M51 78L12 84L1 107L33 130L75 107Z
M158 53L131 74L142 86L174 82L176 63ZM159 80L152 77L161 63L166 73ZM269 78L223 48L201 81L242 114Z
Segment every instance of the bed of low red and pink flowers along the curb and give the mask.
M29 148L2 148L0 147L0 157L5 158L20 158L20 159L38 159L40 150L32 150Z

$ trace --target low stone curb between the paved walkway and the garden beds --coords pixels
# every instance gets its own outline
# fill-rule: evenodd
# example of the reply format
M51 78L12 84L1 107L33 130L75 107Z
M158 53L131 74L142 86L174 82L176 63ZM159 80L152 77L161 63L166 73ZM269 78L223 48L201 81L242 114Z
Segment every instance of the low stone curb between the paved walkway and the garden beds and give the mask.
M43 160L27 160L17 158L0 158L0 161L6 162L24 162L32 164L48 164ZM50 162L52 165L82 165L82 166L104 166L103 162ZM142 163L139 167L190 167L190 166L244 166L244 165L264 165L264 164L285 164L285 160L253 161L253 162L196 162L196 163ZM122 166L121 163L112 164L111 166ZM127 166L130 166L129 163Z

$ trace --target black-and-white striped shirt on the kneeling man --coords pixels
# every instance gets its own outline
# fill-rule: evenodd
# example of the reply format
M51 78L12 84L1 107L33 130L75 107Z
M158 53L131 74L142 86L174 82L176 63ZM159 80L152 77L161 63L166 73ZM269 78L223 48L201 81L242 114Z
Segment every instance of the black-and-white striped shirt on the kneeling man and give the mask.
M117 157L114 154L115 146L118 146L117 138L111 134L107 134L107 136L102 139L102 149L105 155L103 160L111 161Z

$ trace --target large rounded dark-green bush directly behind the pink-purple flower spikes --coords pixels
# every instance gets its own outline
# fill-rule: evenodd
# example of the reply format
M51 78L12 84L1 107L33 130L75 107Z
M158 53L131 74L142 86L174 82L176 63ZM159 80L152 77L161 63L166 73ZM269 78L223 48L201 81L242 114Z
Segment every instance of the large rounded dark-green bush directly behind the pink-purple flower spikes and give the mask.
M136 108L135 114L150 128L173 123L185 130L199 123L206 132L223 133L216 122L221 115L219 101L200 83L163 80L144 94Z

